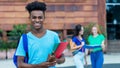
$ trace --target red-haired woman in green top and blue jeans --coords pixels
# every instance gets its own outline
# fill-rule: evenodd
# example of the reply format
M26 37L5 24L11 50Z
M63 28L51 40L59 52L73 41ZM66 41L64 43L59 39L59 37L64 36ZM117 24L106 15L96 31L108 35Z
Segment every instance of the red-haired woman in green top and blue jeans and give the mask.
M91 29L91 35L88 37L88 42L91 46L100 46L99 48L90 49L90 57L92 68L102 68L104 57L103 51L105 50L105 37L101 34L99 26L94 25Z

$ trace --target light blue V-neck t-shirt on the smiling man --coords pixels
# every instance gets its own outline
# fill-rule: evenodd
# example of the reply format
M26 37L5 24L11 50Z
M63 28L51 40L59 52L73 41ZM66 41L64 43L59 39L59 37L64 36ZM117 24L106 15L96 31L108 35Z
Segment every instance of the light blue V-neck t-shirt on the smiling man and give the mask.
M60 39L57 33L47 30L46 34L38 38L31 32L27 33L28 38L28 64L40 64L47 61L48 55L55 50L55 47L60 43ZM26 56L23 49L22 37L16 50L16 55Z

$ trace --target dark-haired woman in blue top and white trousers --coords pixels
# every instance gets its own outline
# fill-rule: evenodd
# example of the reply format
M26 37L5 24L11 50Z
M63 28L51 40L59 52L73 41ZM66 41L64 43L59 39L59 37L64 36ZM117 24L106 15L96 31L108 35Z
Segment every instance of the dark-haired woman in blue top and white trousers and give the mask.
M74 35L70 41L70 48L73 51L73 58L76 68L84 68L84 63L87 64L85 48L85 40L83 38L84 28L80 24L75 26Z

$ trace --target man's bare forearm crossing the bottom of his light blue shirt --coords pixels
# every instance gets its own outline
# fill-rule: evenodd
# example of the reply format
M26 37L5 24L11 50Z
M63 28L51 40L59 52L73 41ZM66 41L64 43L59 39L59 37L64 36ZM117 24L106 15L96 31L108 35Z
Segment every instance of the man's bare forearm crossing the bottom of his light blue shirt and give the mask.
M53 62L43 62L41 64L27 64L24 63L24 57L18 56L18 68L48 68L49 66L55 65L55 61Z

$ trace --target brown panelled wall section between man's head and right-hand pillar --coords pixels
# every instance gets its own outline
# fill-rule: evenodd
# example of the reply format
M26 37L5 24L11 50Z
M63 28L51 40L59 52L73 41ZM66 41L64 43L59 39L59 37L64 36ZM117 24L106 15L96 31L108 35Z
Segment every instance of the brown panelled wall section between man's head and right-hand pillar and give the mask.
M98 22L97 0L45 0L45 2L48 5L45 23L61 25L57 27L58 29L61 27L72 29L72 25L78 23L84 25ZM54 20L51 20L51 17ZM51 27L52 25L49 25L47 28Z

